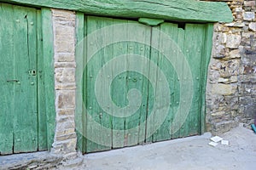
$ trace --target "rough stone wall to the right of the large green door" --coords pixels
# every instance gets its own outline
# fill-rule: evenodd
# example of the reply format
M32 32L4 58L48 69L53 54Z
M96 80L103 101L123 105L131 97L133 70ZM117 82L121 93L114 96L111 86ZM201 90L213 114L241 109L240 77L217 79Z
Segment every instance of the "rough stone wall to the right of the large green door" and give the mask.
M255 0L219 1L229 4L234 21L214 26L207 82L207 130L212 133L252 122L256 114Z

